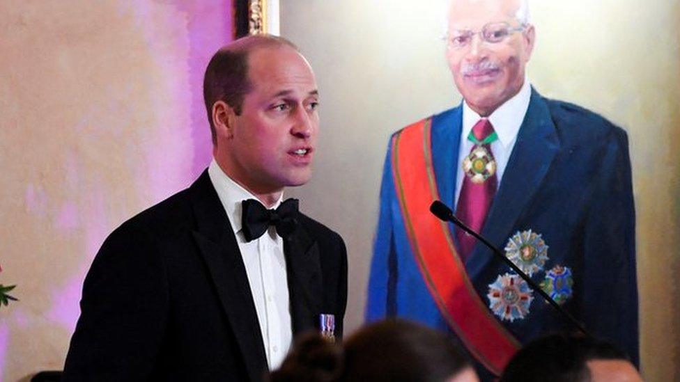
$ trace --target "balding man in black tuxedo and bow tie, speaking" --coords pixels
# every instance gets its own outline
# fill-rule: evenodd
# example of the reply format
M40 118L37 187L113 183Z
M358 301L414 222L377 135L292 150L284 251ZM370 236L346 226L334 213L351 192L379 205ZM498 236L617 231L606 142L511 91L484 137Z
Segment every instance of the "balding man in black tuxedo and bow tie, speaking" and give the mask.
M287 40L217 51L203 84L213 161L106 239L65 381L259 381L297 333L342 335L341 237L283 200L311 177L318 90Z

